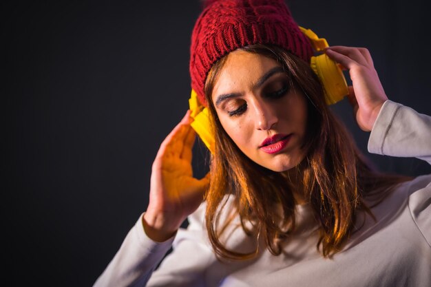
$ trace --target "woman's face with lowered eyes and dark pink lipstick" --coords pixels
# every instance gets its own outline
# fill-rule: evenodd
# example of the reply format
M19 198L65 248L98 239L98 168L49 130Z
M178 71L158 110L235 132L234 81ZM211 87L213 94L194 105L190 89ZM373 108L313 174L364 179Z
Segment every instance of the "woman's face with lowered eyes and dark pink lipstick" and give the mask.
M231 52L215 81L212 100L224 130L257 164L287 171L304 158L306 100L273 59Z

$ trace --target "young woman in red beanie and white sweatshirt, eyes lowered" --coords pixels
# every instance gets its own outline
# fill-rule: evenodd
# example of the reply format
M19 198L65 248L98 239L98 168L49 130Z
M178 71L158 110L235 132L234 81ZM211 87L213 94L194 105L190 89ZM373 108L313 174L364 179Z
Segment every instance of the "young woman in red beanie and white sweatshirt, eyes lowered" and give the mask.
M369 151L431 163L431 117L388 100L368 50L325 54L350 74ZM431 286L431 176L372 170L312 56L284 1L207 2L190 72L210 172L193 178L187 111L154 160L147 211L94 286Z

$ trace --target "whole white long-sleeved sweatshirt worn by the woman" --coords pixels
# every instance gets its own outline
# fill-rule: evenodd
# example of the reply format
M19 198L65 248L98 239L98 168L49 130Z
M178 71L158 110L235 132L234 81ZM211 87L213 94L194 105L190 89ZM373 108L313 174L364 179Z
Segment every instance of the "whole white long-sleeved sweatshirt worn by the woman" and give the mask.
M431 164L431 117L387 100L368 151ZM297 206L297 231L282 255L262 246L255 259L220 262L207 238L204 209L203 203L189 216L187 229L162 243L145 235L141 215L94 287L431 286L431 175L401 184L373 208L377 222L360 213L356 225L361 228L332 259L317 252L317 224L305 204ZM241 228L233 227L228 239L230 248L251 250L253 240Z

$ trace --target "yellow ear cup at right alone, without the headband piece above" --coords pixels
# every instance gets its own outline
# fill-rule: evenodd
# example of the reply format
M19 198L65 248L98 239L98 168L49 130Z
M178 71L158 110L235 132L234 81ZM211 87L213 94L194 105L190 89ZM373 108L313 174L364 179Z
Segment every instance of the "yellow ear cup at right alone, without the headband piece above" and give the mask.
M348 94L343 72L326 54L311 57L311 69L322 81L326 104L335 104Z

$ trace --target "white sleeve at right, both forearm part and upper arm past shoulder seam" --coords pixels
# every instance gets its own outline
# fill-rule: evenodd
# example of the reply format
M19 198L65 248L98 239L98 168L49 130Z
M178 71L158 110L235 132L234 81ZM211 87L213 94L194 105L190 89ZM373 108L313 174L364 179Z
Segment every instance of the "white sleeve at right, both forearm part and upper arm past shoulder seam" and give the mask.
M372 127L368 151L431 164L431 117L387 100ZM419 176L408 186L412 219L431 246L431 175Z

